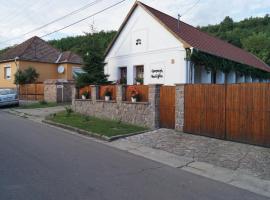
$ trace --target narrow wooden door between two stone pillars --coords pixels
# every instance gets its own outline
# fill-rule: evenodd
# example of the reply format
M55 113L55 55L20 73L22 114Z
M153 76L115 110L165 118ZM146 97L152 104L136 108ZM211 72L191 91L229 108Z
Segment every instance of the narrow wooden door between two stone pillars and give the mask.
M160 127L175 128L175 86L160 88Z

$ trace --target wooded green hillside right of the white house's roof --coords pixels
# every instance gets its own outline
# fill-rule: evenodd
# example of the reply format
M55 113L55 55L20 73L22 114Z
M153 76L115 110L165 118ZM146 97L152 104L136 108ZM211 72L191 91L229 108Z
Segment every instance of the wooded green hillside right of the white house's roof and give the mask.
M270 65L270 16L233 22L226 17L220 24L199 27L209 34L253 53Z

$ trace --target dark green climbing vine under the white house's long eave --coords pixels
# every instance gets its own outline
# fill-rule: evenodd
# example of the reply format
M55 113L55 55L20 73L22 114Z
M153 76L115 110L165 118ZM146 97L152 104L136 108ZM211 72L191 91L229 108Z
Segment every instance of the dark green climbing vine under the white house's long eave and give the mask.
M265 72L249 65L237 63L195 49L193 50L190 59L197 66L205 66L205 69L208 72L217 72L220 70L224 73L229 73L230 71L234 70L239 75L250 75L252 78L270 78L269 72Z

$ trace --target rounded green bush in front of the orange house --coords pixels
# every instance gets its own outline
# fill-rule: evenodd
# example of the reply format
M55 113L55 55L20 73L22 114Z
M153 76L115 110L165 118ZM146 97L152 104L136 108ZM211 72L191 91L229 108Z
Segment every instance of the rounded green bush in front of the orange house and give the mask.
M39 74L37 73L36 69L29 67L26 70L18 70L15 73L15 84L23 85L23 84L31 84L35 83L39 77Z

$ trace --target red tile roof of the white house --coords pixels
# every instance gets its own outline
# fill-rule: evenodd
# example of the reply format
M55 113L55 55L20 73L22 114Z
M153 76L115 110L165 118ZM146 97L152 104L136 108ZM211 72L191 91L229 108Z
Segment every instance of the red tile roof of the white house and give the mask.
M138 5L142 6L146 11L148 11L149 14L155 17L163 26L165 26L165 28L167 28L180 41L184 41L191 47L218 57L226 58L228 60L246 64L270 72L270 67L253 54L243 49L240 49L236 46L233 46L216 37L210 36L209 34L204 33L199 29L191 25L188 25L182 21L180 21L179 24L180 28L178 29L179 21L177 19L165 13L162 13L152 7L149 7L141 2L135 3L125 22L121 26L118 35L115 37L114 42L120 35L122 29L124 28L124 25L127 23L129 17L132 15L133 11L136 9ZM113 46L113 43L111 44L111 47ZM109 47L108 52L110 51L111 47Z

